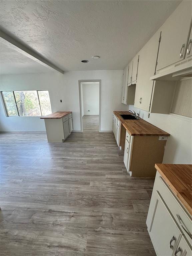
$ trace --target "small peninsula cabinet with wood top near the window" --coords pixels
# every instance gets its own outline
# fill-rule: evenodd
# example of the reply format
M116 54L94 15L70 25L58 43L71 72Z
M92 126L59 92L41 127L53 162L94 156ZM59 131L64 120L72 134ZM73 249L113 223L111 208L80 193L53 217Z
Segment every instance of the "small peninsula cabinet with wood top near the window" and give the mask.
M54 112L40 117L45 121L47 141L64 142L73 130L71 111Z

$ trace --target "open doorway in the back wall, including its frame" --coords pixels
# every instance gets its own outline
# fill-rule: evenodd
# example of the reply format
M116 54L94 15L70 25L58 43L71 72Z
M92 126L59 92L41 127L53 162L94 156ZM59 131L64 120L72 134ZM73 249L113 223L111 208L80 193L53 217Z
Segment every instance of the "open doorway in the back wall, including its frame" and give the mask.
M101 131L101 80L79 80L81 132Z

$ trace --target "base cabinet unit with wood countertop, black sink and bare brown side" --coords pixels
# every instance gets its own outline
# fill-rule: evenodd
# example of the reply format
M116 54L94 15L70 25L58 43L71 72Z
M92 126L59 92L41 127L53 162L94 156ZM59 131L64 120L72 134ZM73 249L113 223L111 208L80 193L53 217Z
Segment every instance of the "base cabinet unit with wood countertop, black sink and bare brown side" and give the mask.
M139 119L125 120L128 111L113 112L113 133L120 149L124 150L124 164L131 176L155 177L156 163L162 163L169 133Z

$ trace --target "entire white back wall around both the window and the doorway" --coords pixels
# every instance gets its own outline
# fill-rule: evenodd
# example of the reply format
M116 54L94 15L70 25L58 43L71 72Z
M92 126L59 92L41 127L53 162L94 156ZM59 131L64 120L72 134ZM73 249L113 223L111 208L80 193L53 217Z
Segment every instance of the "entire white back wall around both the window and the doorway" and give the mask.
M72 111L74 130L80 131L78 80L101 79L101 131L112 131L112 112L127 110L121 104L122 70L71 71L1 75L0 90L49 90L52 111ZM60 99L63 100L60 103ZM0 131L45 131L39 117L6 117L0 100Z

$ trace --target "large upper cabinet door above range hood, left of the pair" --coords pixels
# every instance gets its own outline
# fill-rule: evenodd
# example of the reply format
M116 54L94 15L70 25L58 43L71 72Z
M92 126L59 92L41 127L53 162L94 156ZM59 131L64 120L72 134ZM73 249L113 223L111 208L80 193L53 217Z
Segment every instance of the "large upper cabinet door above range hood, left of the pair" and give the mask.
M191 1L182 1L161 27L161 42L157 70L185 58L191 23Z

